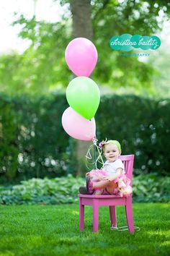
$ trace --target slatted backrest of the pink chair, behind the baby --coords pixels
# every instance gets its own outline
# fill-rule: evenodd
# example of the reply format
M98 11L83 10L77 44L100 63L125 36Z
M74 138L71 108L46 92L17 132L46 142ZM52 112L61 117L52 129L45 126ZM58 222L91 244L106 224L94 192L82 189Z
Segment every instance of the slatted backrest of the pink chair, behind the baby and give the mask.
M133 178L133 162L134 162L135 155L120 155L120 159L122 160L125 166L125 174L131 180Z

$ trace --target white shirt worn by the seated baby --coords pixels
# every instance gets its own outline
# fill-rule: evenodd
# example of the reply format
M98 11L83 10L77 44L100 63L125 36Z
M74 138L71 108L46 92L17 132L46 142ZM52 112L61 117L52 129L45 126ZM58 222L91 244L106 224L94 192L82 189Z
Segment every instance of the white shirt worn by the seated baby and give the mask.
M125 174L125 166L122 163L122 160L120 160L120 158L118 158L114 162L110 162L107 160L102 166L102 169L104 171L107 171L108 176L112 176L113 174L115 174L117 168L122 168L122 174Z

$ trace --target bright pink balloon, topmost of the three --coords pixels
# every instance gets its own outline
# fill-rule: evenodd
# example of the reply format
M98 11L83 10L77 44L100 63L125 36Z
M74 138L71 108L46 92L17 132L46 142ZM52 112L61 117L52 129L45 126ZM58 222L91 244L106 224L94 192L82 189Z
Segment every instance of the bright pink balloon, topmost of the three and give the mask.
M97 48L86 38L75 38L65 52L68 67L77 77L89 77L97 64Z

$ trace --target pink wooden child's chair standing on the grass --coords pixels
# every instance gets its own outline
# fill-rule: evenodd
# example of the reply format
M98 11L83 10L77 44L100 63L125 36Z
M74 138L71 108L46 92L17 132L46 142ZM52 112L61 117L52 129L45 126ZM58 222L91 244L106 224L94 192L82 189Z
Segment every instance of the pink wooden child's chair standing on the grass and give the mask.
M134 155L120 155L120 159L125 165L125 174L131 180L133 178L133 161ZM79 194L79 229L84 230L84 205L91 205L93 208L93 231L99 229L99 206L109 206L109 218L111 226L117 227L115 205L125 205L125 213L130 232L134 232L132 195L120 197L117 195L83 195Z

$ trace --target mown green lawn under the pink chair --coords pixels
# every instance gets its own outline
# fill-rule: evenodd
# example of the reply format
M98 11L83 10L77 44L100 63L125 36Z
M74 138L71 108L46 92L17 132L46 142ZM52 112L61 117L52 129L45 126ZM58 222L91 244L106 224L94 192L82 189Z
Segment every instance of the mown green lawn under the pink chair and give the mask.
M111 231L109 210L99 208L99 232L92 233L90 206L79 232L79 205L19 205L0 208L0 255L169 255L170 205L134 203L140 231ZM126 226L125 208L117 207L117 224Z

